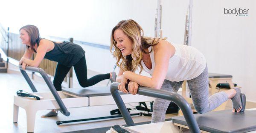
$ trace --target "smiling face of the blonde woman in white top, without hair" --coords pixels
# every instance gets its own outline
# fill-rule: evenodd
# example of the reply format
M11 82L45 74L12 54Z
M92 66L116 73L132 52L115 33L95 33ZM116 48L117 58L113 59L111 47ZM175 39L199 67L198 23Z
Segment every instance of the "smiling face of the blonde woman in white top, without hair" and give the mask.
M122 55L131 55L133 42L120 28L114 31L113 37L116 42L116 47L121 50Z

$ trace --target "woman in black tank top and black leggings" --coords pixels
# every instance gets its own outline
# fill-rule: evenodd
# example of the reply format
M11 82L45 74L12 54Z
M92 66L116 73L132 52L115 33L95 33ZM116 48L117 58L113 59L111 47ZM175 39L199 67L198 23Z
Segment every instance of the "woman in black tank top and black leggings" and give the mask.
M38 67L43 58L58 62L53 80L53 85L57 91L61 91L61 83L74 66L77 79L82 87L92 86L99 81L110 79L115 81L115 72L96 75L87 79L87 66L84 50L81 46L71 42L52 42L40 38L38 28L34 25L26 25L20 28L20 39L26 44L27 50L20 59L20 65L25 69L26 66ZM37 53L34 60L30 60L33 53Z

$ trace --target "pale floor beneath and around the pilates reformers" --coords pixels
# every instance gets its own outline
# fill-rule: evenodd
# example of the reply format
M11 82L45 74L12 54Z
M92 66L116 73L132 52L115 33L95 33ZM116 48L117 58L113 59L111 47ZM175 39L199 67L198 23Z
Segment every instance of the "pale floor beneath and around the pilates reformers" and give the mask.
M17 69L14 66L11 69ZM88 77L98 74L97 72L88 71ZM75 77L74 77L75 78ZM38 91L49 91L47 85L43 80L36 78L33 80L35 87ZM102 81L95 86L105 86L108 80ZM79 86L74 83L74 86ZM26 80L20 74L20 72L9 70L8 73L0 73L0 103L1 103L1 121L0 121L0 133L26 133L26 113L20 108L18 122L13 123L12 113L13 113L13 95L17 90L24 90L31 92ZM132 104L136 106L137 104ZM128 107L131 105L127 105ZM252 102L247 102L247 108L256 108L256 104ZM70 116L64 116L61 113L57 117L51 118L41 118L41 115L46 114L48 111L38 111L35 122L35 133L60 133L76 130L86 130L100 127L109 127L113 125L124 125L125 121L122 118L117 119L105 119L105 120L94 120L87 122L76 122L70 124L56 125L57 120L73 120L73 119L87 119L93 117L109 116L112 109L116 109L116 105L105 105L105 106L94 106L94 107L84 107L84 108L70 108L68 109L71 113ZM226 109L231 109L232 104L229 101ZM135 112L131 112L135 113ZM177 114L168 114L166 118L171 118ZM146 122L150 121L151 117L148 116L133 116L134 122Z

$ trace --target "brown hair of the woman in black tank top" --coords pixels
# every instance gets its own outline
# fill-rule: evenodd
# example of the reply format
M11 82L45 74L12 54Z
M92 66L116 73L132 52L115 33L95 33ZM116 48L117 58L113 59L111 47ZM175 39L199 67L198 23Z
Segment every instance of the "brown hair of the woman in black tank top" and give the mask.
M30 37L30 47L31 49L35 51L35 44L38 44L40 41L40 34L39 34L39 30L35 25L25 25L22 28L20 28L20 30L26 30L26 32L28 33L29 37ZM27 46L29 48L29 46Z

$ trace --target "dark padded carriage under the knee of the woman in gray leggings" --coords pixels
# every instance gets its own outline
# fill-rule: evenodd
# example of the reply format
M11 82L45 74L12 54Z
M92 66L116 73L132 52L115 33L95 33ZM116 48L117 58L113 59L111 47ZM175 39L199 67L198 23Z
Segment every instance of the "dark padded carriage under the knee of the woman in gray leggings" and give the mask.
M244 133L256 130L256 111L213 111L195 114L195 118L201 130L211 133ZM173 117L172 122L187 125L183 116Z

